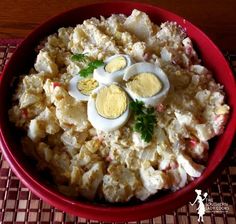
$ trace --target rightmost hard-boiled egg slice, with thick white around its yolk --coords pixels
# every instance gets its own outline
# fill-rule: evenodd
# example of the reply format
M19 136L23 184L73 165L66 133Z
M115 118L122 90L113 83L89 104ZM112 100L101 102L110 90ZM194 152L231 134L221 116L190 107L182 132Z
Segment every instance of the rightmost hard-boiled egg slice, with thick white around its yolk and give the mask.
M126 69L126 91L133 100L143 101L146 106L156 106L167 95L170 83L161 68L140 62Z

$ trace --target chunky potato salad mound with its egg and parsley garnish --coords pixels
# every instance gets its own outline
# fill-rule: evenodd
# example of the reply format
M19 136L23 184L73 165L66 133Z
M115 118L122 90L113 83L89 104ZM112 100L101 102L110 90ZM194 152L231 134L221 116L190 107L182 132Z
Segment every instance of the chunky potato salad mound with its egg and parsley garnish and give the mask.
M42 40L9 119L59 192L144 201L201 176L227 122L224 95L180 25L134 9Z

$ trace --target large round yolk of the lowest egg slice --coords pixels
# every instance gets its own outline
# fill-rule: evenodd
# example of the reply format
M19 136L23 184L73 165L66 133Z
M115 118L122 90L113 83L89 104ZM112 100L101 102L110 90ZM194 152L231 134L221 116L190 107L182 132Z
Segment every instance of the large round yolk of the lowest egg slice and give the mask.
M102 117L115 119L126 111L127 101L126 93L119 86L112 84L97 93L96 109Z

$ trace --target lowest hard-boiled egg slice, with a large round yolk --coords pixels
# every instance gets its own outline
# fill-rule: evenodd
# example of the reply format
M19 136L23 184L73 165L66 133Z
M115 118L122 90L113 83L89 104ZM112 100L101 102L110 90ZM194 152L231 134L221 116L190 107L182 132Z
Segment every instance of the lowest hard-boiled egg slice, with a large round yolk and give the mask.
M129 98L116 84L101 86L88 100L88 120L100 131L114 131L123 126L129 118Z

